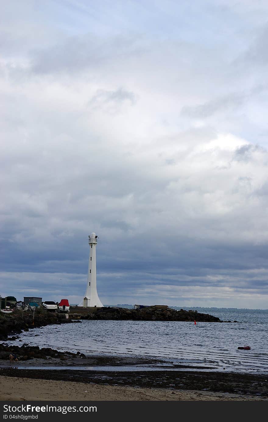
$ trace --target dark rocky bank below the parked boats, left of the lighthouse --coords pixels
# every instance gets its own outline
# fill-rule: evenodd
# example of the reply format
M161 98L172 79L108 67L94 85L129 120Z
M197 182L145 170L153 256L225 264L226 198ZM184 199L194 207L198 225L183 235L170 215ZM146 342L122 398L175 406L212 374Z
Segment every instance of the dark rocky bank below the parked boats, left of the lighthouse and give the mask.
M58 314L57 312L43 311L41 313L32 313L18 311L17 313L0 315L0 341L8 339L9 335L22 333L22 331L29 331L35 327L43 327L50 324L61 324L62 322L73 322L67 319L65 314ZM14 340L14 338L12 338Z

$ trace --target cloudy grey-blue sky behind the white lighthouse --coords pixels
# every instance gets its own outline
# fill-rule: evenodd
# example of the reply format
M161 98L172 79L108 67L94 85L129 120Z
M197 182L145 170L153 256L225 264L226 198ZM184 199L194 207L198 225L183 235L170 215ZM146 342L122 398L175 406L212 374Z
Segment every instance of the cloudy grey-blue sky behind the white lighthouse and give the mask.
M267 309L267 0L0 4L2 297Z

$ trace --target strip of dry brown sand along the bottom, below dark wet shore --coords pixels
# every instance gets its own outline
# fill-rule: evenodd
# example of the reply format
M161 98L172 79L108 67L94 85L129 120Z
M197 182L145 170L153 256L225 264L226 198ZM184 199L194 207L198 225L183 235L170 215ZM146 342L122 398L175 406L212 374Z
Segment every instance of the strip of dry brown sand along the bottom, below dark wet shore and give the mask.
M170 390L164 388L119 387L18 377L0 377L0 400L267 400L230 393Z

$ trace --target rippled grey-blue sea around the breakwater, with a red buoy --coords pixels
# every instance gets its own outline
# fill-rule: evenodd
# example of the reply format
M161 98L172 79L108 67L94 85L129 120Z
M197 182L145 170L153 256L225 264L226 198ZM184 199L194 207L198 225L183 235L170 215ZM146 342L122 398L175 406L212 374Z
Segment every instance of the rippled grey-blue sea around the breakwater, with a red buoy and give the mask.
M268 374L268 310L184 309L196 309L232 322L197 321L194 325L173 321L83 320L30 330L20 334L20 339L32 346L84 354L157 357L169 365L186 365L186 369L192 366L207 371ZM22 343L17 340L12 344ZM237 349L244 345L251 350Z

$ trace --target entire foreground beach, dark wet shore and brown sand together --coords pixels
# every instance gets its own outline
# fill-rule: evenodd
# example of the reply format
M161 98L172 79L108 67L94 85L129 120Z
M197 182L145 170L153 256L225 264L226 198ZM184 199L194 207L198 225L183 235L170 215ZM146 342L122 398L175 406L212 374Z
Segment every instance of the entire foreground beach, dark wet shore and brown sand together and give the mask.
M118 356L2 361L0 400L268 400L267 375L178 365L159 370L164 362Z

